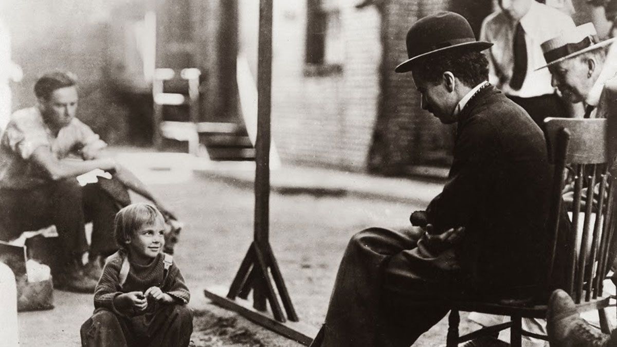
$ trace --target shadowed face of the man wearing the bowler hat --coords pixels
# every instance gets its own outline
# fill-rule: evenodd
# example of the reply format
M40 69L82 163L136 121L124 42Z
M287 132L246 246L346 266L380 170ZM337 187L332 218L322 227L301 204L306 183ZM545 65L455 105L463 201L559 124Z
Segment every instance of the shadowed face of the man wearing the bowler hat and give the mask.
M413 83L421 94L422 109L431 112L444 124L455 123L453 117L454 106L452 95L446 89L445 83L429 82L421 78L418 73L412 72Z

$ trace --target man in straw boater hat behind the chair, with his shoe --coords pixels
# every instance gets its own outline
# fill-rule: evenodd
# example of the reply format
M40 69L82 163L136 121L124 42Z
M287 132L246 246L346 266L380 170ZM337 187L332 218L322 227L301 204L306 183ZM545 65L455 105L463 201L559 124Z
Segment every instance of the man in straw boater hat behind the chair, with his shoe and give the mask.
M615 40L599 41L592 23L579 25L542 44L547 65L540 68L549 68L553 86L564 98L585 104L585 118L607 118L613 139L617 128L617 67L607 61L606 49ZM615 149L612 151L614 157ZM611 174L615 177L615 170ZM614 251L611 257L615 257ZM617 330L607 335L590 327L565 291L557 290L551 296L547 320L551 346L617 346Z

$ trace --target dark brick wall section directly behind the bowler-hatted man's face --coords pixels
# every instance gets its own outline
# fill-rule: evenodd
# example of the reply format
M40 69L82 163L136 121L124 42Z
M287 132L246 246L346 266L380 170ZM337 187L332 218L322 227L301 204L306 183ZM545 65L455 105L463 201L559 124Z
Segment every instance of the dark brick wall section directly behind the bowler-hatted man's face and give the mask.
M491 0L386 1L384 14L383 99L371 147L369 168L384 174L405 174L420 166L447 167L451 161L453 125L420 109L420 96L409 73L394 73L407 59L405 36L421 17L440 10L453 10L470 18L476 35ZM473 14L473 15L472 15Z

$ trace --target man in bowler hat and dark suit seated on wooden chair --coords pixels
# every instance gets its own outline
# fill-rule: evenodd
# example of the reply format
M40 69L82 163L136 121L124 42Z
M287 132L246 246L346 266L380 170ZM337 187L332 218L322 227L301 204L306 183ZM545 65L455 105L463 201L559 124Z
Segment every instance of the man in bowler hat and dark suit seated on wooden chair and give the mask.
M490 46L453 12L408 31L395 71L412 72L423 109L457 124L449 181L412 214L415 227L351 238L313 346L410 346L448 311L426 301L516 297L539 282L547 150L531 117L487 82Z

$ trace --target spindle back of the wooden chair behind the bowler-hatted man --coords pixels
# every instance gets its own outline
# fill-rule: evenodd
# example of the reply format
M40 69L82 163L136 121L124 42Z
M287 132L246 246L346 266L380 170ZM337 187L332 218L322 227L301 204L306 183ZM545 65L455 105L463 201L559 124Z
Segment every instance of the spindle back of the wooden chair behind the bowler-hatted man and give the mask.
M550 159L555 165L548 225L552 237L548 278L553 278L555 259L567 259L566 264L561 264L567 268L563 289L581 303L602 296L602 282L610 265L614 204L607 120L547 118L545 126ZM573 180L567 188L566 169ZM572 201L567 206L571 235L559 234L565 188ZM561 230L566 229L561 225ZM568 240L568 245L558 245L561 240ZM568 254L557 257L556 253L563 249Z

